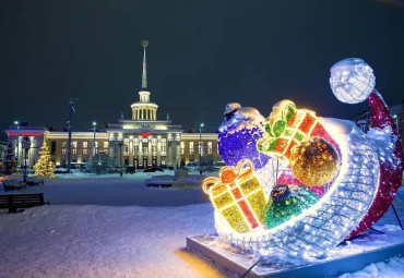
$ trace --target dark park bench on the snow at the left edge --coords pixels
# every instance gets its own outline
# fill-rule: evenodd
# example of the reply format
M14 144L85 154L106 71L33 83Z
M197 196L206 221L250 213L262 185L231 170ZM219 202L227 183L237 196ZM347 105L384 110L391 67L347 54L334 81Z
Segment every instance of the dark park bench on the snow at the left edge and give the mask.
M49 205L45 203L43 193L32 194L1 194L0 208L9 208L9 214L16 213L19 208Z

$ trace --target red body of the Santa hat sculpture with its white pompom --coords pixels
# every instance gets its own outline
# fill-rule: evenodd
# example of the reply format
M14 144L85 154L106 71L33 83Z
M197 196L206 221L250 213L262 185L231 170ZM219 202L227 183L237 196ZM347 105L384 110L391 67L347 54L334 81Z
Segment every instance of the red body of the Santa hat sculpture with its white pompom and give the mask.
M337 99L347 104L368 101L371 129L367 137L372 142L380 164L378 194L349 238L365 231L384 215L403 177L403 149L397 140L397 130L382 96L375 89L375 80L371 68L358 58L344 59L331 68L330 85ZM350 96L347 96L347 92Z

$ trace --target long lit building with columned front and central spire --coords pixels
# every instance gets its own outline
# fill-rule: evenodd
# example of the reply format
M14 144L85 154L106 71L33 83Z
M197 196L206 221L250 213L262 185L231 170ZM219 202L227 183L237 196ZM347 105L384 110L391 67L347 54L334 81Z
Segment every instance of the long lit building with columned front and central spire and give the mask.
M147 89L147 41L142 41L142 89L139 92L139 101L130 106L131 119L121 116L117 123L107 123L103 131L72 131L71 162L83 164L99 154L107 155L116 166L135 168L175 167L181 161L198 161L200 156L206 155L219 160L217 133L185 133L181 125L174 124L168 114L165 120L157 119L158 106L151 102L151 92ZM49 146L52 161L57 166L64 166L68 161L68 132L32 129L12 125L5 131L19 157L23 155L22 136L25 134L35 142L28 154L29 167L37 160L38 148L44 142ZM23 166L22 159L19 159L17 165Z

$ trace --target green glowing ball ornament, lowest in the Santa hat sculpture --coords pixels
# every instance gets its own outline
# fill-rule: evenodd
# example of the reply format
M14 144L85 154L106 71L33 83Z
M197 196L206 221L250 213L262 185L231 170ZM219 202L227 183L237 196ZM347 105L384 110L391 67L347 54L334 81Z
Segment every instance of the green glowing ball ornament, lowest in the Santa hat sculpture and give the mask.
M305 186L280 184L271 193L265 207L265 223L274 228L314 205L319 197Z

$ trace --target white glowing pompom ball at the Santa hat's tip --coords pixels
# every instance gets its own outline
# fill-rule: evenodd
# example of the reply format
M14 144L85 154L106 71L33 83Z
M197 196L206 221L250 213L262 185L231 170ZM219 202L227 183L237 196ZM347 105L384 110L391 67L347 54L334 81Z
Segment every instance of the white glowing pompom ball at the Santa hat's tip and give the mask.
M346 58L331 68L330 85L340 101L361 102L373 90L373 70L361 59Z

